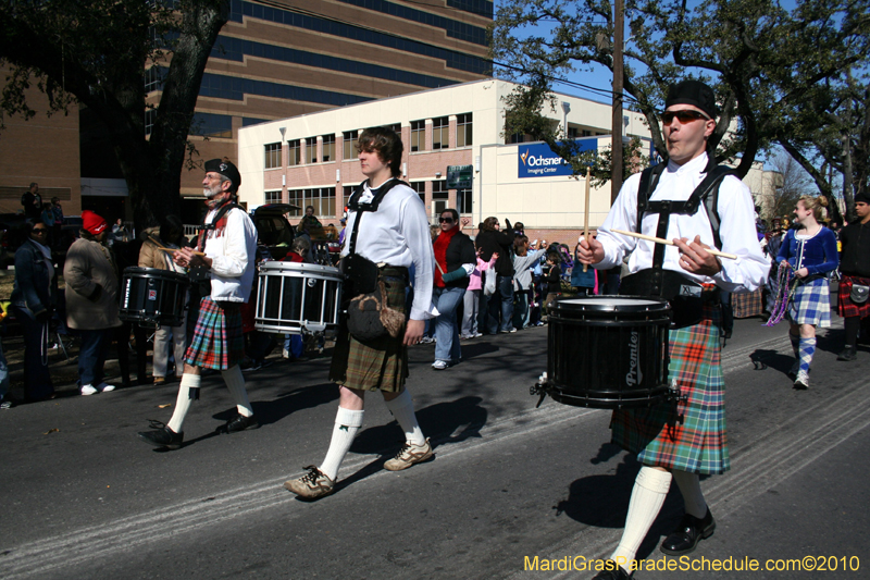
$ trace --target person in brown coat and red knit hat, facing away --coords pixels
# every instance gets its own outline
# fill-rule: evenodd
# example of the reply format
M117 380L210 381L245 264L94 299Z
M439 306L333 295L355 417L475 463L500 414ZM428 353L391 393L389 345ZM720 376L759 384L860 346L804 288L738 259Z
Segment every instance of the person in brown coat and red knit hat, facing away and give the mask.
M103 245L107 223L92 211L82 212L80 236L70 246L63 264L66 281L66 324L78 331L78 384L83 395L107 393L103 366L117 318L117 268Z

